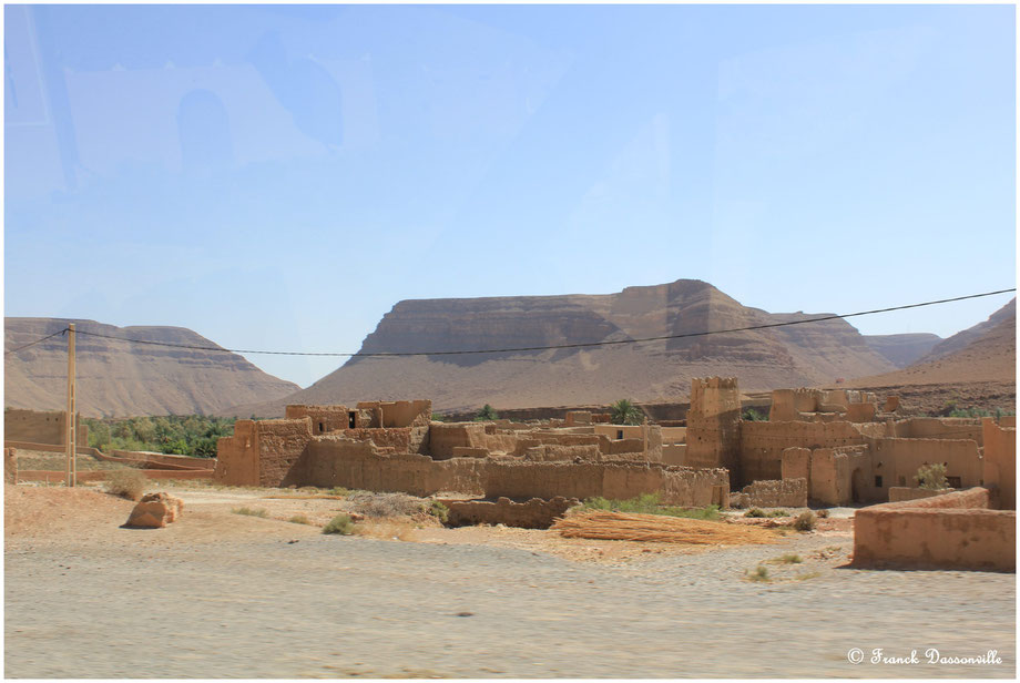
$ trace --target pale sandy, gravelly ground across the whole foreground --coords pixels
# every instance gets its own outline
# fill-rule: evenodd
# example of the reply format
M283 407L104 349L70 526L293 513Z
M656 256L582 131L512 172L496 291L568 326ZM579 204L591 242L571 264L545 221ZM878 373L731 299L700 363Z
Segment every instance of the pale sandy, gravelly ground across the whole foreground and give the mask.
M337 498L173 488L120 527L95 489L6 487L11 677L1012 677L1016 577L845 569L846 512L774 544L692 548L442 529L337 537ZM286 498L286 497L290 498ZM233 513L262 508L267 518ZM839 519L839 518L843 519ZM784 563L783 555L803 561ZM768 581L747 579L758 565ZM851 664L847 652L918 664ZM1001 664L926 664L924 650Z

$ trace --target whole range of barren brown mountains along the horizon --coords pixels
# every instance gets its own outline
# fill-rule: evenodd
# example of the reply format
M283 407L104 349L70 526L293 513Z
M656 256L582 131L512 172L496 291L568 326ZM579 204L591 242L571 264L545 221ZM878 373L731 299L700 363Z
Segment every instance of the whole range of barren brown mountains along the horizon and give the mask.
M618 342L822 317L767 313L701 281L628 287L606 295L399 302L360 353L480 350ZM52 318L7 318L6 348L64 327ZM198 346L216 345L180 327L78 328ZM931 334L865 336L842 319L788 327L503 354L355 357L307 389L231 353L118 343L79 335L79 405L85 415L217 414L280 416L287 404L428 397L437 410L686 400L692 377L740 377L746 393L779 387L888 387L931 395L970 383L975 401L1016 395L1016 302L948 339ZM50 339L6 356L4 405L60 409L67 343ZM989 384L991 383L991 384ZM994 385L992 389L991 387ZM917 387L921 388L917 388ZM988 391L991 390L991 394ZM937 391L936 391L937 393ZM945 391L944 391L945 393ZM944 397L938 395L941 401ZM931 399L932 405L936 399ZM939 404L941 405L941 404Z

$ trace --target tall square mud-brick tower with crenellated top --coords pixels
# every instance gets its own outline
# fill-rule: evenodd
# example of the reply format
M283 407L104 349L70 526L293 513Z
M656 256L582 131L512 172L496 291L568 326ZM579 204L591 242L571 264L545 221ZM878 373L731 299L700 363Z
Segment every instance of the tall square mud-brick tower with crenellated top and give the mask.
M741 391L735 377L691 380L687 465L730 470L733 486L745 475L741 458Z

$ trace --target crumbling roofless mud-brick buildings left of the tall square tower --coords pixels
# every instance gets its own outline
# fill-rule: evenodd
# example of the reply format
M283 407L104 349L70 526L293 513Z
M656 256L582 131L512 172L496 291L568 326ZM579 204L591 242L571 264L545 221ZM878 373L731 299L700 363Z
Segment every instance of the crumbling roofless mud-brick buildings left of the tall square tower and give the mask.
M670 504L728 506L728 472L663 463L656 425L430 418L429 400L288 406L284 419L237 420L218 441L214 479L513 499L657 492Z

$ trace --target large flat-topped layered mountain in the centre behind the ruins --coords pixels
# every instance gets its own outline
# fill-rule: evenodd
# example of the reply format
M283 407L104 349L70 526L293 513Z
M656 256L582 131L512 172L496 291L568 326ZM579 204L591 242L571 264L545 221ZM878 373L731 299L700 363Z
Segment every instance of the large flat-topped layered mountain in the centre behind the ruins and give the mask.
M818 314L824 315L824 314ZM405 300L363 353L479 350L696 334L817 317L769 314L694 279L618 294ZM691 378L736 376L745 390L812 386L894 369L844 320L640 344L397 358L353 358L308 389L237 415L283 414L286 402L428 397L437 409L682 400Z

